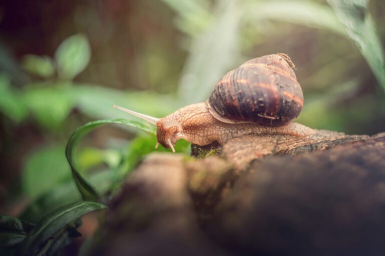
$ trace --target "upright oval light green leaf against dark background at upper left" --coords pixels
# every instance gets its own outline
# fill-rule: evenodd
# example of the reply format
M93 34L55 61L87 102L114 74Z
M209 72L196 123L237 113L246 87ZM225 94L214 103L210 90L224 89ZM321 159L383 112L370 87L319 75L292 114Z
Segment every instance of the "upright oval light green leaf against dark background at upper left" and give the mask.
M75 34L65 39L55 52L58 74L62 79L73 79L86 68L91 58L86 35Z

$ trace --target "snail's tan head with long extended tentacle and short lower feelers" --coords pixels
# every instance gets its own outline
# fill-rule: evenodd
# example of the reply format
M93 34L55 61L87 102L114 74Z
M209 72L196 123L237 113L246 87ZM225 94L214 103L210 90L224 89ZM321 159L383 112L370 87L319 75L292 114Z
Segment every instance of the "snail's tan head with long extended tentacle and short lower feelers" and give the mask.
M150 115L138 113L121 106L114 105L114 108L120 109L132 115L135 115L143 120L146 120L154 125L156 125L156 145L155 148L158 147L159 144L164 146L165 148L171 148L172 152L175 152L174 145L176 141L180 138L184 138L182 131L182 125L174 120L170 120L166 117L164 118L156 118Z

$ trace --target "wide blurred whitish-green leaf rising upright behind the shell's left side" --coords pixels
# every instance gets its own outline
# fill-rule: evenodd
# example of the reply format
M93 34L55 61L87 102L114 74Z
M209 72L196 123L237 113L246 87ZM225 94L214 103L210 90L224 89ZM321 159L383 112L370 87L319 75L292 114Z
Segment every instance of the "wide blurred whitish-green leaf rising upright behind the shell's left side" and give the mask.
M218 18L193 41L178 89L184 104L206 100L218 80L240 64L236 60L243 7L240 1L218 1Z

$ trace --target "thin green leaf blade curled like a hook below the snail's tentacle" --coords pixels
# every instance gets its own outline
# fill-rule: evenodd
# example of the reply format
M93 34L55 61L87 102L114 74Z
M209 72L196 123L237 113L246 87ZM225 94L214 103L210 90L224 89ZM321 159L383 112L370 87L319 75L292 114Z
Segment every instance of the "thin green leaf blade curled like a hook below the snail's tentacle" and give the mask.
M155 131L153 128L150 128L147 125L144 125L140 122L130 121L126 119L108 119L108 120L92 121L92 122L86 123L85 125L75 130L67 142L66 156L71 166L72 174L76 182L76 185L79 189L79 192L82 194L84 200L96 200L99 196L98 196L98 193L95 191L95 189L92 187L92 185L86 179L84 179L84 177L78 172L77 168L74 165L73 152L74 152L75 146L77 145L79 140L92 129L100 125L110 124L110 123L124 124L127 126L136 127L143 131L146 131L155 135Z

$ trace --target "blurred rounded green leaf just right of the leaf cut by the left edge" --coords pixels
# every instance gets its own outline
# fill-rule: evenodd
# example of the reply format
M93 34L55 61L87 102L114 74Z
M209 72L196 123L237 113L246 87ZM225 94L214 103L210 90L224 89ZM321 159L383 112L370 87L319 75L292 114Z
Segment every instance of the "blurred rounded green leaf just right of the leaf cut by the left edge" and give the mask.
M26 106L43 127L58 129L71 111L75 95L68 85L32 84L24 91Z

